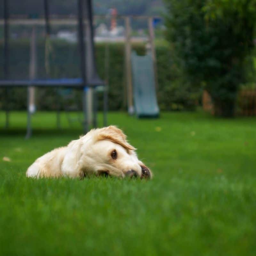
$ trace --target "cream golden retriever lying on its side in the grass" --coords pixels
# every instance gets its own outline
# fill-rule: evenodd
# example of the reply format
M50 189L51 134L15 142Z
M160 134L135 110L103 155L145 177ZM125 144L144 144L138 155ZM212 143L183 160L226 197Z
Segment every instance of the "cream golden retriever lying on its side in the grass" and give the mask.
M116 126L92 129L68 146L55 148L29 166L27 177L116 176L150 179L151 171Z

